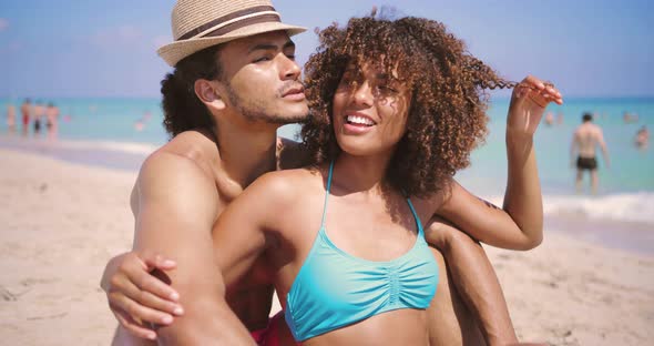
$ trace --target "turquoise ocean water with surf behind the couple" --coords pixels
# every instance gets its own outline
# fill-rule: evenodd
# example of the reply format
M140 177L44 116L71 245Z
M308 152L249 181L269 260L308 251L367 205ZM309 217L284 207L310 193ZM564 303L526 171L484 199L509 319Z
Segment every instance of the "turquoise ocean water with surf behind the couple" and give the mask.
M7 104L20 106L21 100L0 100L0 146L39 147L48 140L10 134L6 124ZM74 155L82 163L103 164L135 170L140 161L167 141L162 125L159 99L48 99L61 110L58 147L84 151ZM490 133L484 145L472 153L472 164L457 179L468 190L501 204L507 176L504 123L509 102L493 99L489 110ZM634 135L642 125L654 130L654 98L643 99L569 99L563 105L550 106L563 114L563 123L541 124L535 136L539 172L543 186L546 215L589 221L634 223L637 228L654 228L654 145L638 150ZM589 177L582 193L575 192L575 170L571 166L572 133L581 123L583 112L596 114L595 123L604 130L611 167L600 155L600 192L589 194ZM636 123L625 124L623 113L638 114ZM150 114L150 115L146 115ZM143 126L136 128L141 120ZM20 122L20 119L19 119ZM288 125L279 134L295 138L299 126ZM43 151L43 150L41 150ZM70 159L70 154L54 151ZM102 154L99 154L102 153ZM127 157L127 159L125 159ZM127 162L123 165L116 162Z

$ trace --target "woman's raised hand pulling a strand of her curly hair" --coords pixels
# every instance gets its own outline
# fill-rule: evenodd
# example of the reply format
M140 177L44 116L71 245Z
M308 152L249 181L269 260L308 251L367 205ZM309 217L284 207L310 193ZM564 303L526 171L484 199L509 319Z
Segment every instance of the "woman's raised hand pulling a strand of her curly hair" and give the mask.
M554 84L528 75L513 89L507 131L533 135L550 102L563 104L561 93Z

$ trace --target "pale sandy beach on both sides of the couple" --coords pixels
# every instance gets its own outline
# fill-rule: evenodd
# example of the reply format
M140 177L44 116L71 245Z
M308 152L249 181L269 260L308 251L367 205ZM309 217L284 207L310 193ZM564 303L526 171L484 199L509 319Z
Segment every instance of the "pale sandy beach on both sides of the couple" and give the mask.
M0 167L0 344L109 344L99 281L131 247L136 173L4 149ZM531 252L488 248L520 338L654 345L654 257L551 231Z

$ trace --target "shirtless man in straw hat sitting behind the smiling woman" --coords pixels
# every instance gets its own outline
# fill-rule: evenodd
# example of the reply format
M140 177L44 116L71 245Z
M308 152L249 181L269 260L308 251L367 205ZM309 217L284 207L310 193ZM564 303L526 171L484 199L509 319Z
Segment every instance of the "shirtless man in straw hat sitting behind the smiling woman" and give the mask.
M137 337L153 339L154 332L140 319L159 324L161 344L232 345L232 337L248 330L216 304L221 291L212 275L217 265L211 230L225 206L256 177L303 162L293 143L277 141L276 130L308 114L289 39L304 29L283 24L266 0L181 0L172 26L175 42L159 53L175 68L162 82L164 124L173 139L141 169L131 199L134 252L110 262L102 286L121 322L114 345L143 343ZM469 244L466 251L450 251L448 260L457 271L464 267L464 275L457 277L470 291L464 298L479 307L472 311L478 320L495 326L483 329L487 339L514 342L505 303L481 247L444 223L431 227L439 230L446 250ZM175 258L176 267L152 254ZM152 268L164 269L159 275L171 283L175 289L171 298L178 298L183 312L151 294L159 289L156 281L141 274ZM293 345L283 319L268 323L273 291L262 260L238 284L227 287L226 297L249 332L279 330L276 340ZM464 328L453 314L454 307L459 312L458 296L453 293L450 298L447 288L439 288L439 295L451 312L449 319L441 318L451 328L440 333L456 334ZM233 334L217 332L223 329Z

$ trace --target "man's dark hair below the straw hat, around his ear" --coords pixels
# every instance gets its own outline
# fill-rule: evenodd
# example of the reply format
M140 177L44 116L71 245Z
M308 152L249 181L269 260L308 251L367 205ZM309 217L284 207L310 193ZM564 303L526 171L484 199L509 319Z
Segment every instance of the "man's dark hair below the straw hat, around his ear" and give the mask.
M215 121L195 95L195 81L221 78L221 45L210 47L177 62L173 73L161 81L163 124L171 138L193 130L212 129Z

